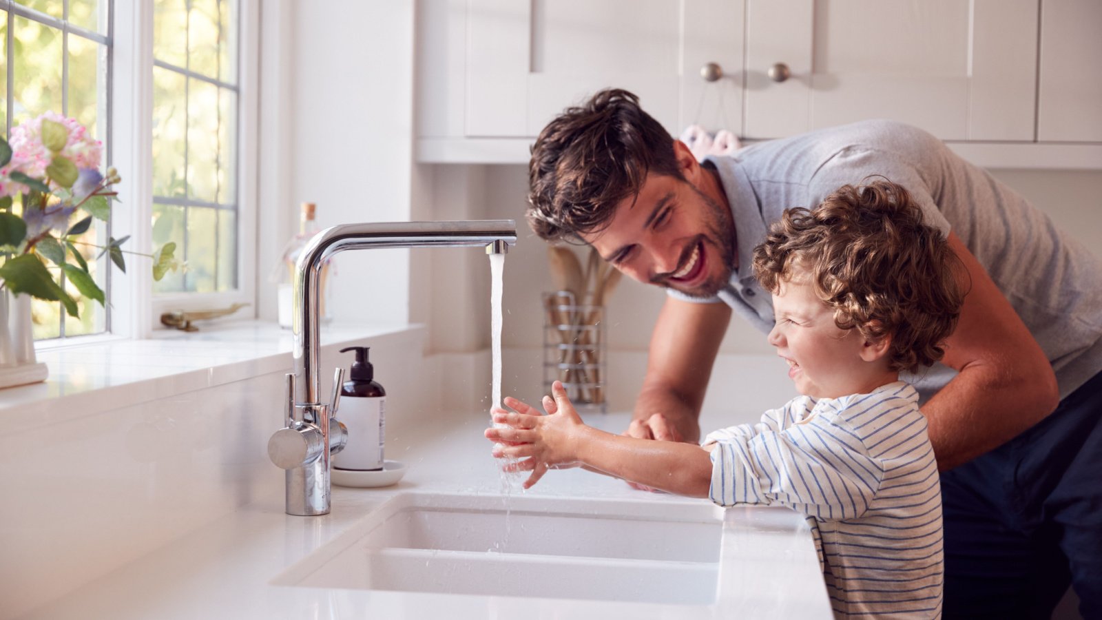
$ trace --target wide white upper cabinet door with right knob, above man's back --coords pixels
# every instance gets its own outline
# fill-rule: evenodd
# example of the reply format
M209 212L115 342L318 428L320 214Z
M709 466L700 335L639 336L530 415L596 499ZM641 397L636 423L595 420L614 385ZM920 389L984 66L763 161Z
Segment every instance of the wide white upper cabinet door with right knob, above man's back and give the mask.
M892 118L1033 140L1037 18L1038 0L747 0L745 135Z

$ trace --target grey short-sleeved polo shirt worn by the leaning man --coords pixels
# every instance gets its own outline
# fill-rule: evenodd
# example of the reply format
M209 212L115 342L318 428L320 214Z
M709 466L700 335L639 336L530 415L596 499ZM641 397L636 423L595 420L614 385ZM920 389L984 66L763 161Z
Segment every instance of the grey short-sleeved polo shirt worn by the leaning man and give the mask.
M738 269L715 299L761 331L773 329L768 292L754 279L753 249L788 207L813 209L839 186L880 175L907 188L925 221L957 233L1017 311L1056 371L1065 397L1102 371L1102 259L1049 217L929 133L889 120L760 142L715 165L735 218ZM940 364L906 381L928 397L953 372Z

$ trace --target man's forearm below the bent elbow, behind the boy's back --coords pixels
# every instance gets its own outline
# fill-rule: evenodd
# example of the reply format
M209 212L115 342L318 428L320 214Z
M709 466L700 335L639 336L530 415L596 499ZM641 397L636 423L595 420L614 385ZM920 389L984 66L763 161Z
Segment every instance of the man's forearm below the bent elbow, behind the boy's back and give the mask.
M993 366L963 368L922 406L938 469L963 464L1009 441L1056 407L1056 378Z

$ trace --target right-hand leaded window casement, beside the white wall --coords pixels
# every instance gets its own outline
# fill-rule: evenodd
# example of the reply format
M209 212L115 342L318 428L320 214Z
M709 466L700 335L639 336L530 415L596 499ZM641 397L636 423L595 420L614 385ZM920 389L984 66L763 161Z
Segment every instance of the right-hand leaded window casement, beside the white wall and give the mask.
M242 119L256 118L241 81L251 4L153 0L151 242L175 243L184 263L152 282L154 313L252 301L253 216L240 191L256 184L240 157Z

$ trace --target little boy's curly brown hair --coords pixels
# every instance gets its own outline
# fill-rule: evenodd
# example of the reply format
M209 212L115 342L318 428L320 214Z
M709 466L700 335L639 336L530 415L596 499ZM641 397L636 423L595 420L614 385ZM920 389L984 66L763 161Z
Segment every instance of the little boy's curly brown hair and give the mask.
M873 342L890 334L895 371L944 355L964 299L959 265L907 190L886 180L843 185L814 210L785 210L754 248L754 275L768 291L807 277L840 329Z

